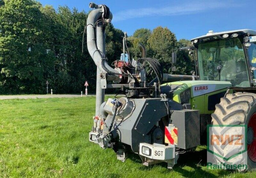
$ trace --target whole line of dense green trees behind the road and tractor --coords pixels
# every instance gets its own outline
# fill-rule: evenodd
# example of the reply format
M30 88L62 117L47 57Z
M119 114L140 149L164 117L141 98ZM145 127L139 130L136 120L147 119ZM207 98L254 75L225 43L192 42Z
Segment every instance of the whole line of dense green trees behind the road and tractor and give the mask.
M86 47L82 53L83 32L88 12L76 8L42 6L34 0L0 0L0 94L45 94L46 81L54 93L79 93L88 81L96 88L96 66ZM106 27L106 56L109 64L120 59L124 32L112 24ZM177 54L172 72L172 49L185 47L166 27L138 29L128 37L132 58L140 58L138 43L147 56L159 59L164 73L190 74L188 52Z

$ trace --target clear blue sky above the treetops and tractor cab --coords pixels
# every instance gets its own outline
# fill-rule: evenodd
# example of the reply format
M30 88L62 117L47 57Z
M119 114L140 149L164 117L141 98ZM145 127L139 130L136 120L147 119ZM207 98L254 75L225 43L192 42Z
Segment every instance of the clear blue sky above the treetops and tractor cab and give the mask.
M43 5L67 5L90 10L87 0L39 0ZM113 13L113 25L128 35L138 28L168 27L177 39L192 39L209 30L220 32L250 28L256 30L255 0L94 0Z

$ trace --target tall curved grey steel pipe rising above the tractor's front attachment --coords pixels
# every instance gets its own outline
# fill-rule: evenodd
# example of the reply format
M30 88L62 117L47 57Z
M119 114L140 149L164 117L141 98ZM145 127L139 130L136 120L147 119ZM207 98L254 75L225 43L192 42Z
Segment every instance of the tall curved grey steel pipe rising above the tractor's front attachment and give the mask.
M95 115L100 114L100 105L104 102L105 89L101 88L101 73L118 73L107 63L105 56L106 42L105 42L105 26L103 21L110 22L112 19L112 13L105 5L97 5L90 3L89 7L95 8L87 17L87 48L88 51L97 66L97 79L96 79L96 107ZM103 19L105 16L106 19ZM103 76L103 75L102 75ZM116 80L118 75L112 75L111 78ZM106 80L108 77L106 76Z

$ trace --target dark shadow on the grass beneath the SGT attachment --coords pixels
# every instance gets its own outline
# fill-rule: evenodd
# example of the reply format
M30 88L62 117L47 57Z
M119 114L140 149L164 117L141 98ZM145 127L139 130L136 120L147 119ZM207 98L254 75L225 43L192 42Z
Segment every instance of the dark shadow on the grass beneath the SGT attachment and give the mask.
M212 174L210 171L202 169L204 166L207 164L207 158L206 154L207 150L201 150L201 151L195 151L195 152L188 152L185 154L180 154L180 157L178 159L178 163L173 167L173 169L168 169L167 168L167 163L162 162L159 163L158 165L166 168L166 170L162 173L168 174L169 172L171 173L172 171L180 173L184 177L212 177L212 178L217 178L217 177L222 177L224 175L230 174L232 171L230 170L218 170L218 172L215 174ZM141 162L141 159L139 155L137 154L129 154L128 158L131 159L134 162ZM191 170L187 170L184 168L184 166L188 166L192 168ZM202 167L203 166L203 167ZM154 167L152 166L141 166L139 169L143 170L151 170ZM206 167L205 167L206 169Z

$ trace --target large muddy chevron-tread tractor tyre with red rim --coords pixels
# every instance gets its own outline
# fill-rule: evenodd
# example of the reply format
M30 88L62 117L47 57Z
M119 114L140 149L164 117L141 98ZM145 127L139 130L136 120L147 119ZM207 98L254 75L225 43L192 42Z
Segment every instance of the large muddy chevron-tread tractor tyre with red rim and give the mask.
M213 125L247 125L247 170L256 170L256 94L228 94L215 107Z

